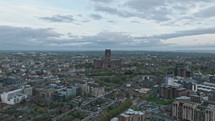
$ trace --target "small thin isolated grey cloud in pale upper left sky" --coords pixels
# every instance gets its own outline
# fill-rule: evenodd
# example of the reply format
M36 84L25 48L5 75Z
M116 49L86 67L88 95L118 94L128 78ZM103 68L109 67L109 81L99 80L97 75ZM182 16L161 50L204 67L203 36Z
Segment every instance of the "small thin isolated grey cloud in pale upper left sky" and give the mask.
M72 23L75 21L72 15L54 15L52 17L40 17L41 20L59 23Z

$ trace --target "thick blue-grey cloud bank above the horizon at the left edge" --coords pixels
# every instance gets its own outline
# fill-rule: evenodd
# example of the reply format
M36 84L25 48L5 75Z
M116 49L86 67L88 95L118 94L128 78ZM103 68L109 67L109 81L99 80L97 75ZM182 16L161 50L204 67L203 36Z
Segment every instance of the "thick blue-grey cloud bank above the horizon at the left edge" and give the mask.
M0 48L6 50L41 49L49 40L61 36L61 34L54 32L51 28L33 29L28 27L0 26Z

